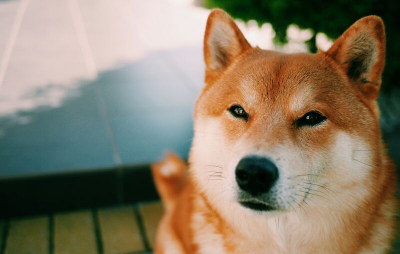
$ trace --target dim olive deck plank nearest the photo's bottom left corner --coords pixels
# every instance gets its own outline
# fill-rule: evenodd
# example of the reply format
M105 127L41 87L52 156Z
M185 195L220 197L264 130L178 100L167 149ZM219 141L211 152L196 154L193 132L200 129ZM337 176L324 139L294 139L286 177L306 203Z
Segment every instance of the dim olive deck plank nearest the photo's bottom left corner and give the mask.
M10 221L6 254L48 253L48 217L20 218Z

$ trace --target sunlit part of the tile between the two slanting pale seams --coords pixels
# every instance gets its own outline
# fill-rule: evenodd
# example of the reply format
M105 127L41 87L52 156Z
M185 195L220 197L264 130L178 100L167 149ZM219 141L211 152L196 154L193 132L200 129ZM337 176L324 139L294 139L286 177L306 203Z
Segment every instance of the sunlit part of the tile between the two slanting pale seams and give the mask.
M2 95L26 96L44 84L64 86L87 77L68 1L30 0L7 66Z

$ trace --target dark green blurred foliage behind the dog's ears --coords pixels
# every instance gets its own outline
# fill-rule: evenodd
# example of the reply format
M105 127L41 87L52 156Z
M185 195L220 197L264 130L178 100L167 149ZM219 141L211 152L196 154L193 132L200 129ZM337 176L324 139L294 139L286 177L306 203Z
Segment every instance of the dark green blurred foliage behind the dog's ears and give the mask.
M205 7L221 8L234 18L255 19L259 24L272 24L279 42L286 41L289 24L311 28L314 36L307 42L310 51L316 51L315 34L324 32L337 38L357 19L366 15L378 15L386 28L386 66L383 87L395 86L396 69L400 69L400 1L398 0L204 0ZM382 87L382 88L383 88Z

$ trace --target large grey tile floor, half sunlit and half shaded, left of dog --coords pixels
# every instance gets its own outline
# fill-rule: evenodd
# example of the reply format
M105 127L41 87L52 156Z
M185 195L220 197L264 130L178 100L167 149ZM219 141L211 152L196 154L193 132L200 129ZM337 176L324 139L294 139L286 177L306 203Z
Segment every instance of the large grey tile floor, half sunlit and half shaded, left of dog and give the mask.
M154 4L169 14L154 19ZM145 163L165 150L186 157L206 17L190 8L0 1L0 177ZM174 48L162 29L184 36L168 16L176 9L194 13L185 22L198 36Z

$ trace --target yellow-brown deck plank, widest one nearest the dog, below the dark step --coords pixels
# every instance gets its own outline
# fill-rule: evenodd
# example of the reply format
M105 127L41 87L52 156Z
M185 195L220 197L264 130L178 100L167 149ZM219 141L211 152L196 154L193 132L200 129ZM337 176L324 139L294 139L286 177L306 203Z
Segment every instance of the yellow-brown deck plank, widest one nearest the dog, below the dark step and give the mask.
M98 220L104 254L145 249L132 206L100 209Z

